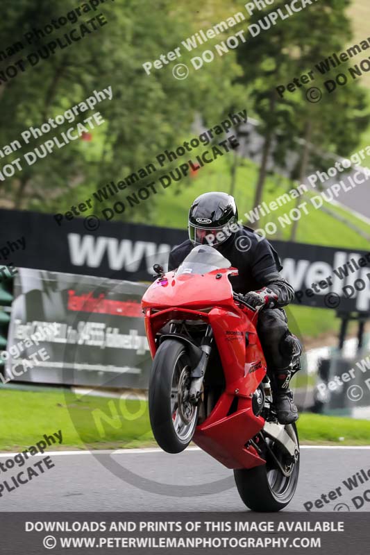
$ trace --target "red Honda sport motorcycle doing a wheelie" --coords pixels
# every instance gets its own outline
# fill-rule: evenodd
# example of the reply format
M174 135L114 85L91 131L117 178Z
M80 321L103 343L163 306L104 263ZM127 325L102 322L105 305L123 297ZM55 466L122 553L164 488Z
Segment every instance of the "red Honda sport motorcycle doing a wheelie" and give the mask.
M258 311L233 293L228 279L237 269L210 246L196 246L176 271L153 268L158 275L142 307L153 357L155 440L168 453L194 441L233 468L249 509L280 511L298 482L298 434L276 418Z

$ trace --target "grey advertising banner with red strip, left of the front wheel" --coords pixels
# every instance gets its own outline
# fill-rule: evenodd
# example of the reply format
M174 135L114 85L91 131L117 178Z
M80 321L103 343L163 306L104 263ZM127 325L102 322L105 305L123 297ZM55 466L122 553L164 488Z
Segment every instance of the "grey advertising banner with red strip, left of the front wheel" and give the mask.
M144 388L144 284L19 268L6 379Z

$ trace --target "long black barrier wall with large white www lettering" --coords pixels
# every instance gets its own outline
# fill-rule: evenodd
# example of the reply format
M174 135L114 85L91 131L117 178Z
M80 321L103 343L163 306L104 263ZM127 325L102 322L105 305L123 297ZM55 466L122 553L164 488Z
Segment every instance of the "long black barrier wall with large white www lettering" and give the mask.
M131 282L151 280L153 264L166 268L171 248L187 239L186 230L95 216L74 217L62 225L35 212L0 210L0 218L7 230L0 245L3 264ZM296 304L370 310L370 246L362 252L290 241L271 244L280 255L283 276L296 291Z

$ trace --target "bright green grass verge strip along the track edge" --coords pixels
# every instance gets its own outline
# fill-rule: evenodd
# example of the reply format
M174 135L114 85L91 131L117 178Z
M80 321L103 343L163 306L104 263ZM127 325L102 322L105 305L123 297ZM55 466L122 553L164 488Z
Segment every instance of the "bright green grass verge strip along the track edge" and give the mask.
M1 388L0 397L1 451L24 450L58 430L62 444L53 444L50 450L155 445L144 400L78 396L47 388L40 392ZM304 413L298 431L303 444L367 445L370 421Z

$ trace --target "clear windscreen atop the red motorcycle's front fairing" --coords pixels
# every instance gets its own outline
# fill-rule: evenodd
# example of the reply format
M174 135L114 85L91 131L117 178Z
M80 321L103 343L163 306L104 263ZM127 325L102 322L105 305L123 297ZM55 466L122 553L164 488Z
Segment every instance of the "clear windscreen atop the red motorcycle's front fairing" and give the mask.
M230 268L230 261L219 253L218 250L208 245L199 245L178 266L176 275L192 274L203 275L221 268Z

